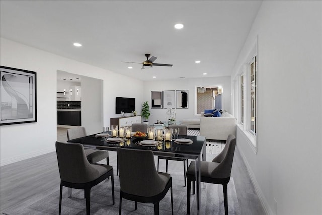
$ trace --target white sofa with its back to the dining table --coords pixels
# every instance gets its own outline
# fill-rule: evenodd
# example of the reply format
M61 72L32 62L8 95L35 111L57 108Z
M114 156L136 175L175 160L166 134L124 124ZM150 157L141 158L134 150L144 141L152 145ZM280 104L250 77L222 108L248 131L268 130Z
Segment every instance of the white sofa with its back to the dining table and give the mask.
M200 136L207 139L227 140L229 134L236 136L236 118L231 114L227 117L205 117L200 116Z

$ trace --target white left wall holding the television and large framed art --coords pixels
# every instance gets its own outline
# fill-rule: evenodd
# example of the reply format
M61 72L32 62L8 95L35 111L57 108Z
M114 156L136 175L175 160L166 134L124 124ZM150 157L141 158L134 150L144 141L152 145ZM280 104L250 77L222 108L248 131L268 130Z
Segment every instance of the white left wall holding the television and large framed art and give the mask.
M0 38L0 56L2 66L37 72L37 122L0 126L0 166L55 151L57 70L103 80L103 117L106 127L111 117L118 116L115 114L116 96L136 98L136 106L139 108L143 102L143 81L134 78L4 38Z

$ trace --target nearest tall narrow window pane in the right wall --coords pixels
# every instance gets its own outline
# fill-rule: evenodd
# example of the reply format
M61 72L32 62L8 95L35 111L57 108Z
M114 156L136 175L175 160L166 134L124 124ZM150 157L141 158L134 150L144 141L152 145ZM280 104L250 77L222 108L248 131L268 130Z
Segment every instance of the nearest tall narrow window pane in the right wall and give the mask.
M250 132L256 135L256 56L252 59L250 63Z

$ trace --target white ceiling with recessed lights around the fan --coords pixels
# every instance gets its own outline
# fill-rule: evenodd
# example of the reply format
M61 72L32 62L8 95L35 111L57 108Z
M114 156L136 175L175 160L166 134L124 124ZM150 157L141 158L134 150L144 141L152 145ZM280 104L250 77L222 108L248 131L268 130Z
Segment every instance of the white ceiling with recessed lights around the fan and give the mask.
M0 1L0 34L141 80L229 76L261 3ZM184 28L175 29L176 23ZM173 66L141 70L121 63L143 62L145 53Z

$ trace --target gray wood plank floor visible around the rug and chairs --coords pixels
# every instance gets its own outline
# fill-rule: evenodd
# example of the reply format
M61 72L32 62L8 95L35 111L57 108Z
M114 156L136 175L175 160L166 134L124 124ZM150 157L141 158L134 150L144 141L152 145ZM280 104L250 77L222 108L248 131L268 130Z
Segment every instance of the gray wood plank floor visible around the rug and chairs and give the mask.
M57 140L67 140L66 128L57 128ZM211 161L215 156L207 154L207 160ZM116 157L116 153L110 152L110 157ZM237 148L231 177L234 178L241 214L265 214ZM41 200L58 190L59 183L55 152L0 167L0 213Z

